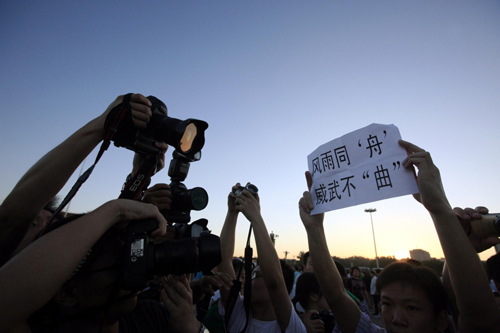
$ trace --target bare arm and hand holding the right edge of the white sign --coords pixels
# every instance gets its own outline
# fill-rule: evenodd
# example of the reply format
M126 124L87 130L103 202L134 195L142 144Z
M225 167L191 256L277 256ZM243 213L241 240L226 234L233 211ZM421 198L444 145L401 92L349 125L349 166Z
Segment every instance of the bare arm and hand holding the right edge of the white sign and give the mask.
M500 332L500 310L488 285L488 277L446 198L438 168L428 152L406 141L400 141L400 145L413 152L403 165L406 168L416 166L419 170L419 201L434 221L446 258L460 313L460 332Z

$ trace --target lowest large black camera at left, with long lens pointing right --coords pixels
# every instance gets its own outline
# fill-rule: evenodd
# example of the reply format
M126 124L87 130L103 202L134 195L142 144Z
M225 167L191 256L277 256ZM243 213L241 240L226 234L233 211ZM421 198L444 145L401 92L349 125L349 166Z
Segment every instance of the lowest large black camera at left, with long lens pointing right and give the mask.
M191 225L181 224L176 228L176 239L154 244L148 241L148 234L158 228L158 221L131 222L125 234L121 288L140 290L155 275L210 272L222 258L220 238L210 234L207 223L202 219Z

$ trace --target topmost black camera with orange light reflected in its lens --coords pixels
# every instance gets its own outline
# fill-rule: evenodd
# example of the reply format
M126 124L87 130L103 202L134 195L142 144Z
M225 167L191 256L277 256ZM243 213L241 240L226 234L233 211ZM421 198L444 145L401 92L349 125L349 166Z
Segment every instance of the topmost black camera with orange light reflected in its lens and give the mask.
M168 116L165 103L148 96L152 116L145 129L134 126L132 117L125 117L113 137L115 146L125 147L136 153L157 155L155 141L163 141L191 159L205 144L204 132L208 124L198 119L179 120Z

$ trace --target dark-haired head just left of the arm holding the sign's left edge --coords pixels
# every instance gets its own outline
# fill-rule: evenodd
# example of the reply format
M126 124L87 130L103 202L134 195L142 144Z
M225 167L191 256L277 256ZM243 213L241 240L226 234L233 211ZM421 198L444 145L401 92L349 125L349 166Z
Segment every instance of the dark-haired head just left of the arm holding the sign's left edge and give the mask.
M302 273L297 279L293 303L296 304L297 302L306 311L316 310L319 312L323 309L329 309L314 273Z

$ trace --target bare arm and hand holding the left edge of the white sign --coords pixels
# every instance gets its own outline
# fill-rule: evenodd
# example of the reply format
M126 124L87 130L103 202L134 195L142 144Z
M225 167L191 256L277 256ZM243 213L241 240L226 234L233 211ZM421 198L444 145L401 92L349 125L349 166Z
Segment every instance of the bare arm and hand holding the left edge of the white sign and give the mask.
M312 178L308 171L306 172L306 180L310 190ZM361 312L345 291L342 277L328 250L323 228L324 214L311 215L313 208L311 193L306 191L299 201L299 209L300 218L307 231L309 252L314 262L314 273L340 330L343 333L354 332L358 326Z

